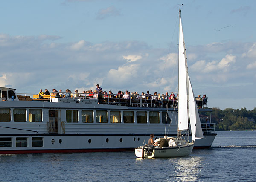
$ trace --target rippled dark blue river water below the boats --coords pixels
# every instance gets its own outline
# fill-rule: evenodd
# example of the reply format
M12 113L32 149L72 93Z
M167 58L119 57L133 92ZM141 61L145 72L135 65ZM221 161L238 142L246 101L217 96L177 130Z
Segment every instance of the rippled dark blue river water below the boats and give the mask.
M188 157L134 152L0 155L0 181L256 181L256 131L218 131Z

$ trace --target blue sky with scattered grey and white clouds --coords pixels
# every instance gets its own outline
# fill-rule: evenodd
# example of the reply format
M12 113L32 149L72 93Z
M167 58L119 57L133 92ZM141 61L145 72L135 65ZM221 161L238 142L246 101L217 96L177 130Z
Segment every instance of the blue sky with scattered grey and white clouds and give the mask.
M255 0L4 0L0 9L0 87L177 95L181 9L195 95L208 107L256 107Z

